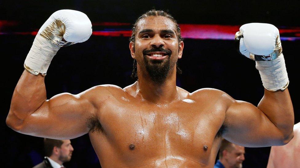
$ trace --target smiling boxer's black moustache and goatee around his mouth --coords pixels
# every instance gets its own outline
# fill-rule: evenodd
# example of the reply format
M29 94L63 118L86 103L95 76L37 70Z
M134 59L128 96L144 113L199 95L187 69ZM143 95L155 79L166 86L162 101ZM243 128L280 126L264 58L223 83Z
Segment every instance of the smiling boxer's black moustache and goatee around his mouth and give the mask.
M166 52L167 58L164 60L150 60L146 54L150 52ZM151 50L144 50L144 63L150 79L156 84L164 84L166 78L171 70L170 57L172 52L163 48L153 48Z

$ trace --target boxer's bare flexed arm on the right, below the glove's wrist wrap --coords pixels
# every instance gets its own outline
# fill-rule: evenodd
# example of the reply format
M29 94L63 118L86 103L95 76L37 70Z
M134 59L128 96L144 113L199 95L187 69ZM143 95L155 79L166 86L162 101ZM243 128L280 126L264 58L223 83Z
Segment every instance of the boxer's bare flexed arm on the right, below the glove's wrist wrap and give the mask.
M293 137L294 111L288 89L265 93L258 106L227 97L223 138L245 147L277 146Z

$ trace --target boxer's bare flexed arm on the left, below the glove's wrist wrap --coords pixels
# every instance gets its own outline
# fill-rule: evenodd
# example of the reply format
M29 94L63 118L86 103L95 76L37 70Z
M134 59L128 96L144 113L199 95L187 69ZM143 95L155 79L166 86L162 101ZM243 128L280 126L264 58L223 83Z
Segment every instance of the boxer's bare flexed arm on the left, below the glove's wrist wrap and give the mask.
M14 90L6 123L27 135L73 139L89 132L88 119L109 95L105 87L97 86L78 95L62 93L47 100L44 77L24 71Z

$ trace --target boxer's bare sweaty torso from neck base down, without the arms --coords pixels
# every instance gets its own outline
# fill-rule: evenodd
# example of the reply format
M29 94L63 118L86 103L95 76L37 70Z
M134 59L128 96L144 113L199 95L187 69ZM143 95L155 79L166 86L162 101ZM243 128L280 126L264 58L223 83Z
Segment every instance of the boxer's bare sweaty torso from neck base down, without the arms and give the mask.
M101 166L214 165L227 108L221 91L201 89L190 94L177 87L178 100L156 105L143 100L135 84L108 90L111 95L87 122Z

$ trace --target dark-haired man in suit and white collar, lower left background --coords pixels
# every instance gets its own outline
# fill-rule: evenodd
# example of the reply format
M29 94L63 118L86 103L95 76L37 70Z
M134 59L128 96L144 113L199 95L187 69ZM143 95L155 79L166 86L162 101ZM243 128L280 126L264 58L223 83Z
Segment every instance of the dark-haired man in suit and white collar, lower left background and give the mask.
M70 140L44 139L45 159L33 168L62 168L69 162L74 151Z

